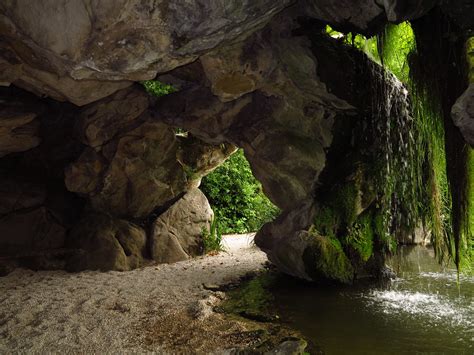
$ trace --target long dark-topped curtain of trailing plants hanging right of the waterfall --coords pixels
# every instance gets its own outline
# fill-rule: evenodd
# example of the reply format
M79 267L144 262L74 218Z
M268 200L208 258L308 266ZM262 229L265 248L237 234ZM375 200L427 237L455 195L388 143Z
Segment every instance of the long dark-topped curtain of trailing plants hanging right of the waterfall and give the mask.
M458 270L472 265L469 185L472 181L469 148L453 125L451 107L467 87L469 42L463 31L435 9L412 22L416 48L410 54L410 89L422 109L432 158L430 168L433 241L438 257L452 258ZM467 61L467 63L466 63ZM467 64L467 65L466 65ZM420 117L420 115L418 115ZM437 214L437 216L436 216ZM469 269L469 267L468 267Z

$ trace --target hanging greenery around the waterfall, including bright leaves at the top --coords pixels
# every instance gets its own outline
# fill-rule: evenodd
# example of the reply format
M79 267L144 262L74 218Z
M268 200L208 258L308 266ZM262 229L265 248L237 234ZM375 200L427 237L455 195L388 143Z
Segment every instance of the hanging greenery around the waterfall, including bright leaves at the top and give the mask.
M387 95L386 88L379 89L380 95L376 90L380 97L374 100L375 109L382 112L381 120L387 116L385 120L390 124L387 131L392 132L386 137L388 146L393 144L390 142L399 141L399 137L409 139L409 145L404 161L389 161L390 174L380 176L376 182L384 198L374 217L375 235L391 251L394 250L391 231L400 227L413 230L422 222L431 231L440 261L453 258L460 269L472 272L474 158L453 128L450 109L464 90L465 77L474 80L474 39L463 39L443 15L433 12L430 16L434 19L417 21L415 30L408 22L388 24L383 33L370 39L342 34L329 26L326 33L364 51L393 73L410 92L413 120L401 122L397 114L400 117L402 112L396 115L383 112L381 100ZM462 57L466 58L467 66ZM463 72L465 67L466 73ZM391 80L390 75L386 75L386 80ZM378 102L382 102L380 107ZM385 153L397 157L391 148ZM400 174L408 179L400 178ZM331 227L334 216L325 210L320 212L316 227L332 235L334 229L337 230ZM365 227L361 229L364 230L368 231Z

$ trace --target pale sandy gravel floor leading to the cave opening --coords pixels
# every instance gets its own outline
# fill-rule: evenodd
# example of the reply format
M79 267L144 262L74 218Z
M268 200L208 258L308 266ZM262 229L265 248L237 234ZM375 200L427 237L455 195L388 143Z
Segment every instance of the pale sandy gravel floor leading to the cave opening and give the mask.
M208 317L206 305L222 294L203 284L260 270L266 256L252 235L224 243L227 251L215 256L130 272L16 270L0 278L0 353L207 352L225 345L212 334L201 341L208 331L232 343L243 328Z

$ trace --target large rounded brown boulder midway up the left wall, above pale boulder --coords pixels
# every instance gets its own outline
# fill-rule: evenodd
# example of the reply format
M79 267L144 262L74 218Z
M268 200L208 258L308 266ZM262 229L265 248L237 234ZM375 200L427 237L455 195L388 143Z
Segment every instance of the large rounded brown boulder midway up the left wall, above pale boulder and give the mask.
M186 188L177 149L171 128L145 122L99 151L86 150L66 170L66 186L96 210L143 218Z

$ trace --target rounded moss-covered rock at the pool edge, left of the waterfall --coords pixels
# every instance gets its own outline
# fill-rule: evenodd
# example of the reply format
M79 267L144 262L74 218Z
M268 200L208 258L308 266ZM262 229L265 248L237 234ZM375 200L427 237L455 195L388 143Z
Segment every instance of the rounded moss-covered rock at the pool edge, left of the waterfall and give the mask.
M354 268L337 239L319 235L310 237L311 241L303 252L307 274L315 281L351 283Z

